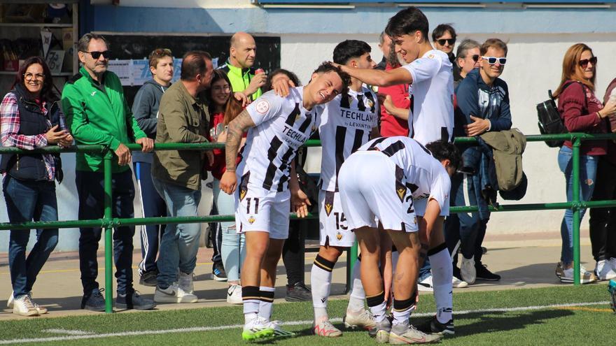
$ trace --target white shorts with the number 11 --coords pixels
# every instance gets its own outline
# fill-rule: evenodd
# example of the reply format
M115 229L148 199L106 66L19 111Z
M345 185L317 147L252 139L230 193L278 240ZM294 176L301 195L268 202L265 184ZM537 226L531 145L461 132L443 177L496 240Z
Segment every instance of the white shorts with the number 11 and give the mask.
M235 195L237 233L266 231L269 238L288 238L290 192L269 191L251 184L238 184Z

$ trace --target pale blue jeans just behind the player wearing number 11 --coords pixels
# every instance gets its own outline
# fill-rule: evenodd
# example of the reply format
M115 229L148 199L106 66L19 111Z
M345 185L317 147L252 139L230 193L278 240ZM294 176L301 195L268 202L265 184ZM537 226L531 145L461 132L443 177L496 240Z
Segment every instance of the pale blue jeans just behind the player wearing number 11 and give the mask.
M214 179L212 182L212 191L214 192L214 201L218 208L219 215L234 215L235 214L235 194L225 194L221 191L221 181ZM221 256L223 257L223 266L227 273L229 282L239 281L239 269L246 258L246 237L244 233L237 233L235 222L221 222L221 231L223 233L223 242L221 246Z

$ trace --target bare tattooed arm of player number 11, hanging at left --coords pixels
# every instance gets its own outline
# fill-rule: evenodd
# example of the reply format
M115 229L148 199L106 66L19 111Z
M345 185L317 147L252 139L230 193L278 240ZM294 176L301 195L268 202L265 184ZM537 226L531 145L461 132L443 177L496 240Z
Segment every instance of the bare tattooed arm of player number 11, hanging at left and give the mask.
M244 132L249 128L254 127L251 116L248 111L243 110L232 122L229 123L227 129L227 141L225 142L225 161L227 170L221 177L221 190L226 194L232 194L237 187L237 177L235 176L235 166L237 161L237 152L241 145L241 138Z

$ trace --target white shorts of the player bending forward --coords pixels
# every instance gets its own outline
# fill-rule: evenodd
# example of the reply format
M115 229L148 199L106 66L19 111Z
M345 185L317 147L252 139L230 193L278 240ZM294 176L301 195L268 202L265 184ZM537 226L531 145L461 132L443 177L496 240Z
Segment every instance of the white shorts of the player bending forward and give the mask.
M349 229L376 227L377 217L384 229L418 231L411 191L396 181L396 166L378 151L355 152L338 173L342 210Z

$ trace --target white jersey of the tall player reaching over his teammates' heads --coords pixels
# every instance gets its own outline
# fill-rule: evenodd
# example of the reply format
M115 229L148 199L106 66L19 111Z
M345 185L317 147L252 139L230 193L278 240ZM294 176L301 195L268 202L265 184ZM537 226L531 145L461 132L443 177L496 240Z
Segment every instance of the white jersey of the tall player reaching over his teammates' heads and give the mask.
M434 140L451 141L454 133L454 70L447 54L430 50L402 69L413 77L409 86L409 137L423 145Z

